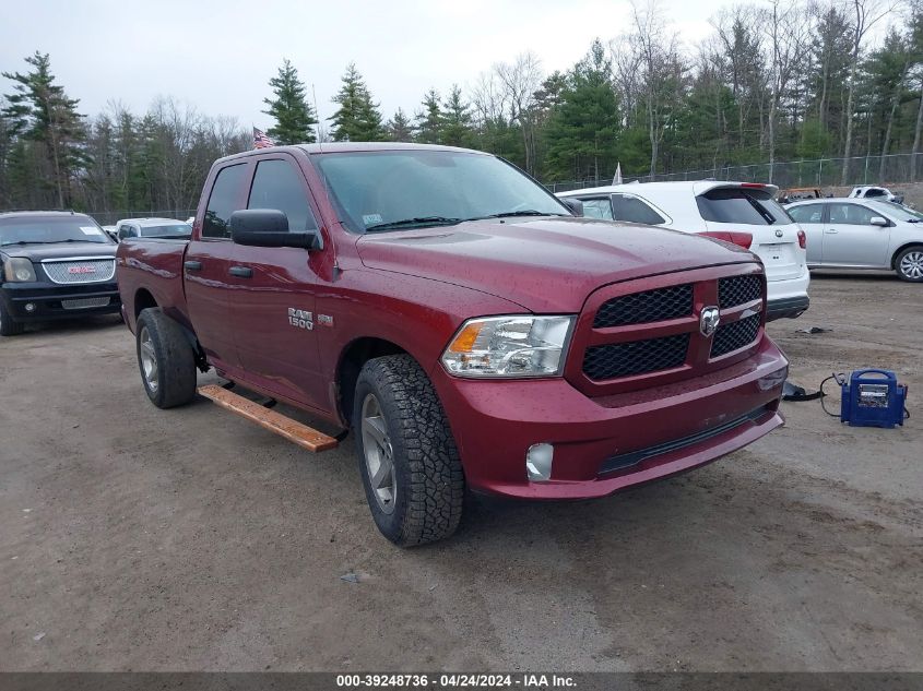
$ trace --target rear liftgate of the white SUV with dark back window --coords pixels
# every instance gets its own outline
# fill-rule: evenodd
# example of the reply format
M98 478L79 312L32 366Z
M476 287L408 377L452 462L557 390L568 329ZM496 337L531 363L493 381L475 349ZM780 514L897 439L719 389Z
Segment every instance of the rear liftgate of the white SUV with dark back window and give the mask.
M761 184L717 187L696 195L708 230L749 233L750 250L762 260L766 279L786 281L804 273L798 226Z

